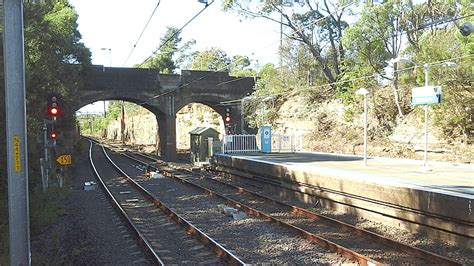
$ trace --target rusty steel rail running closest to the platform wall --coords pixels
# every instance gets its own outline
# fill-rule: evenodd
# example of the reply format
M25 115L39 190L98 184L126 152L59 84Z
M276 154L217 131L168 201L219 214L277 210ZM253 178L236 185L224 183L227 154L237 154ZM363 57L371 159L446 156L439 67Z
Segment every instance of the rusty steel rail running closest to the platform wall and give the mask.
M186 170L186 169L185 169ZM189 170L186 170L186 171L189 171ZM382 243L385 243L387 245L390 245L390 246L393 246L393 247L396 247L398 248L399 250L401 251L404 251L404 252L407 252L407 253L410 253L412 255L415 255L415 256L419 256L423 259L428 259L434 263L438 263L438 264L442 264L442 265L460 265L459 263L451 260L451 259L448 259L446 257L443 257L441 255L438 255L436 253L432 253L432 252L429 252L429 251L426 251L426 250L423 250L423 249L420 249L420 248L417 248L417 247L412 247L412 246L408 246L406 244L403 244L401 242L398 242L398 241L395 241L393 239L390 239L390 238L387 238L387 237L384 237L382 235L379 235L377 233L374 233L374 232L371 232L371 231L368 231L368 230L365 230L365 229L361 229L361 228L357 228L353 225L350 225L348 223L345 223L345 222L342 222L342 221L339 221L339 220L336 220L336 219L333 219L331 217L328 217L328 216L324 216L324 215L321 215L321 214L317 214L315 212L312 212L312 211L308 211L304 208L301 208L301 207L298 207L298 206L295 206L295 205L290 205L290 204L287 204L287 203L284 203L282 201L279 201L279 200L276 200L276 199L273 199L271 197L267 197L265 195L261 195L259 193L256 193L256 192L253 192L253 191L250 191L248 189L245 189L243 187L240 187L240 186L236 186L236 185L233 185L233 184L229 184L227 182L224 182L224 181L221 181L221 180L217 180L217 179L214 179L212 177L208 177L208 179L214 181L214 182L217 182L221 185L225 185L225 186L228 186L228 187L232 187L233 189L235 189L237 192L239 193L249 193L251 195L254 195L256 197L260 197L260 198L263 198L265 200L268 200L268 201L271 201L273 203L276 203L276 204L279 204L281 206L284 206L286 208L289 208L293 213L296 213L302 217L305 217L305 218L308 218L308 219L311 219L313 221L326 221L326 222L329 222L329 223L334 223L336 224L337 226L339 226L342 230L345 230L345 231L350 231L350 232L353 232L359 236L363 236L363 237L368 237L368 238L371 238L373 240L376 240L376 241L380 241Z

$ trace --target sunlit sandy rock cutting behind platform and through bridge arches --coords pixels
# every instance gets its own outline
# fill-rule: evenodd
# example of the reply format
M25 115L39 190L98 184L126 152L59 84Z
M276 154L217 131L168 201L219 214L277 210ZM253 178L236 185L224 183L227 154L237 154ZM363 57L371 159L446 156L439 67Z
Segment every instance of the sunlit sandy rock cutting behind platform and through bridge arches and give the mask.
M347 119L347 109L339 101L308 106L303 99L293 98L277 110L273 133L304 136L304 149L344 154L363 153L363 114ZM390 135L380 135L382 126L377 123L372 110L368 112L369 156L423 159L424 123L421 113L412 112L393 123ZM191 104L183 108L176 119L177 147L189 148L189 131L198 126L211 126L223 131L222 119L211 108ZM156 119L151 113L125 117L125 140L129 144L154 147ZM430 161L474 163L474 145L457 140L447 140L439 128L429 121L428 158ZM109 139L120 140L120 121L107 128Z

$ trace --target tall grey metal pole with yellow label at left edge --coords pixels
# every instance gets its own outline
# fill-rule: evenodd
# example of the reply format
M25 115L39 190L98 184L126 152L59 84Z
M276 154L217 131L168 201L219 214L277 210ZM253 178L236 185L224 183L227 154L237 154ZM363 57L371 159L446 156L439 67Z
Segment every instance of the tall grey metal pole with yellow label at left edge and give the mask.
M23 1L3 0L10 265L31 265Z

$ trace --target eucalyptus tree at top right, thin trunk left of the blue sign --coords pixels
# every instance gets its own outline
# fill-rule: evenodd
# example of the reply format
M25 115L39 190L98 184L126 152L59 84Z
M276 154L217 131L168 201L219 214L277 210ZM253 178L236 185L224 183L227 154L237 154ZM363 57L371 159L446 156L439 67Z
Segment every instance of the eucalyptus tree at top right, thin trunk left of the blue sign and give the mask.
M402 52L416 56L422 49L420 38L449 27L450 24L443 23L459 13L460 6L465 5L461 2L465 1L428 1L415 5L412 1L388 0L378 5L365 4L358 20L346 29L342 38L348 50L346 66L351 66L347 67L343 79L367 76L368 79L363 80L365 86L367 83L375 85L376 80L370 76L376 74L392 81L398 115L404 116L411 107L402 97L407 94L406 91L399 86L399 76L403 73L399 73L400 66L397 63L393 65L393 76L385 73L385 67L390 59ZM424 45L427 46L426 43ZM408 49L403 51L403 47L407 46ZM364 85L356 81L352 86Z

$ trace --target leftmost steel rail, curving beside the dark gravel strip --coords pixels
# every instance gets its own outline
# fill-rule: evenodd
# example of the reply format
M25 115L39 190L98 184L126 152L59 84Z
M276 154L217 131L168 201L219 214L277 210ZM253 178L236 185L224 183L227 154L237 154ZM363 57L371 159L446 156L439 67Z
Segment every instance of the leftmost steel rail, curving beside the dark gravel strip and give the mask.
M93 146L93 141L89 139L90 142L90 147L89 147L89 162L92 166L92 170L94 171L94 174L99 180L99 183L101 184L102 189L105 191L107 194L109 200L112 202L113 207L115 210L119 212L121 217L125 220L126 225L130 228L134 236L139 242L139 245L145 250L145 253L150 257L150 259L153 261L154 264L157 265L165 265L159 255L153 250L151 244L148 242L148 240L145 238L145 236L138 230L138 228L135 226L135 224L132 222L128 214L125 212L125 210L122 208L120 203L115 199L115 197L112 195L110 190L107 188L105 185L105 182L102 180L102 177L100 176L99 172L97 171L97 168L95 167L94 161L92 159L92 146Z

